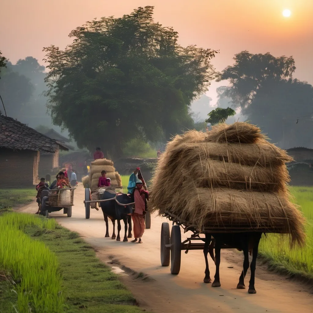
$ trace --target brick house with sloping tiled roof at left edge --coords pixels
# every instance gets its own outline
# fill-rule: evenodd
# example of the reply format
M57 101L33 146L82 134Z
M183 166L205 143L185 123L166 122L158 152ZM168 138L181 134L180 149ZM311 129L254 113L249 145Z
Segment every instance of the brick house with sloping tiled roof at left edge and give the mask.
M0 115L0 188L37 184L40 154L48 153L57 162L60 149L68 150L33 128Z

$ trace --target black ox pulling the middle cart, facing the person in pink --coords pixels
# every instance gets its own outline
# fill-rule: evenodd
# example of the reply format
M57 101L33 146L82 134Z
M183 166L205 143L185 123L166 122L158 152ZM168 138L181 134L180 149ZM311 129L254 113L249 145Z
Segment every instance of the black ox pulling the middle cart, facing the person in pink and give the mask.
M116 240L121 241L121 237L120 237L121 220L123 220L125 224L125 235L124 235L123 241L128 241L127 238L132 237L131 214L133 213L133 205L130 203L133 202L133 199L125 193L117 194L116 192L111 192L107 190L101 196L101 200L112 199L112 198L115 198L115 199L105 201L105 202L100 202L100 206L103 212L105 226L106 226L105 237L110 237L109 223L108 223L108 218L110 218L113 224L112 239L115 239L115 220L117 220ZM128 236L126 236L127 229L128 229Z

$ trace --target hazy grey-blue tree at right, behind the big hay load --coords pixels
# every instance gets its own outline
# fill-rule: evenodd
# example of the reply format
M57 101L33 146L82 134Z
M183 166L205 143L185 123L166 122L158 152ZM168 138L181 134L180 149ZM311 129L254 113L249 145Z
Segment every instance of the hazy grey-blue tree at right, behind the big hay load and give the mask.
M230 82L221 95L282 148L311 147L313 87L292 78L294 59L247 51L234 59L219 77Z

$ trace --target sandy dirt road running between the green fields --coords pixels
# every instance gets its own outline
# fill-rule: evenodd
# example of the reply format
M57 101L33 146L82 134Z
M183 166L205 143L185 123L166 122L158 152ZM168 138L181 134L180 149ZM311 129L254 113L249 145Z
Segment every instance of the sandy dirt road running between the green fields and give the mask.
M84 239L97 249L98 257L109 263L116 259L120 264L147 274L151 279L134 279L136 275L124 273L121 280L131 290L143 309L157 313L185 312L313 312L313 296L305 285L291 282L284 276L269 273L262 266L256 270L256 295L247 290L236 289L242 268L241 254L235 250L223 250L221 261L220 288L204 284L204 257L200 250L182 253L179 275L171 275L169 267L160 264L160 232L165 218L151 217L151 229L146 229L143 244L116 242L104 238L105 223L101 211L91 209L90 219L85 219L83 204L84 189L80 185L75 190L72 217L61 214L63 211L49 214L73 231L79 232ZM24 212L35 213L37 204L22 208ZM121 237L124 236L122 226ZM110 235L112 226L110 224ZM185 236L184 234L183 236ZM111 264L111 266L115 266ZM233 267L233 268L228 268ZM210 261L211 278L215 268ZM115 268L116 270L116 268ZM246 285L250 273L248 271Z

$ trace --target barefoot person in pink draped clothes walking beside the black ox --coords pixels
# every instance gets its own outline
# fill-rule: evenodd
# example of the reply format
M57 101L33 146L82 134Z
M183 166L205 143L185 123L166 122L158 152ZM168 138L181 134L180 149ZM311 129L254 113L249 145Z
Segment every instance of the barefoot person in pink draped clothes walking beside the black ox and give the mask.
M145 215L147 210L147 200L149 200L149 194L142 188L142 181L140 179L136 182L136 188L132 194L135 202L135 212L132 215L133 220L133 231L135 239L131 242L137 242L142 244L141 237L145 231Z

